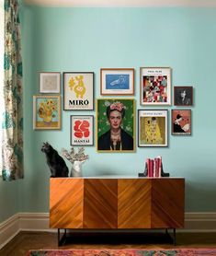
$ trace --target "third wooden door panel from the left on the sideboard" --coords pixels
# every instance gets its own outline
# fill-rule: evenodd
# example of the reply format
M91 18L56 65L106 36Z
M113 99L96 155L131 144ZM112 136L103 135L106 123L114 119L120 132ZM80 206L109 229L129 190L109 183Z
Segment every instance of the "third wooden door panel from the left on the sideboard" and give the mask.
M151 227L151 182L119 179L118 228Z

